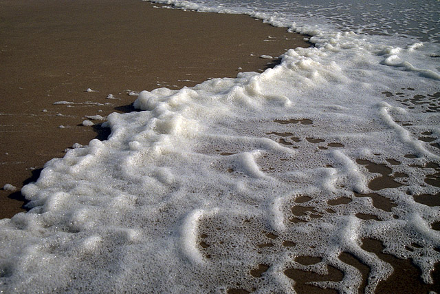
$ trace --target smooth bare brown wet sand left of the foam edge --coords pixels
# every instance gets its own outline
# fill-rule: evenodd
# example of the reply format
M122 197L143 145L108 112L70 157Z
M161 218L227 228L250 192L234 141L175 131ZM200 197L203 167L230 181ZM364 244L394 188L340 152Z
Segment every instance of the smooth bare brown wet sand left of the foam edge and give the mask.
M0 190L0 218L24 211L19 189L38 178L45 162L74 143L106 138L100 127L80 124L85 115L130 110L135 97L126 90L235 77L270 66L262 54L309 46L303 36L245 15L153 6L140 0L0 0L0 187L18 188Z

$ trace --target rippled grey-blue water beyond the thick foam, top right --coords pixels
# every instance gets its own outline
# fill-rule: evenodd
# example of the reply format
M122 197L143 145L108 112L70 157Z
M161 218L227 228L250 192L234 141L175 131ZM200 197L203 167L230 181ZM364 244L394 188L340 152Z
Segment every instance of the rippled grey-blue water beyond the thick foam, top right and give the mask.
M186 8L234 12L263 12L280 21L318 25L320 28L352 30L439 43L438 1L320 1L320 0L193 0L159 1ZM286 26L287 26L286 25Z

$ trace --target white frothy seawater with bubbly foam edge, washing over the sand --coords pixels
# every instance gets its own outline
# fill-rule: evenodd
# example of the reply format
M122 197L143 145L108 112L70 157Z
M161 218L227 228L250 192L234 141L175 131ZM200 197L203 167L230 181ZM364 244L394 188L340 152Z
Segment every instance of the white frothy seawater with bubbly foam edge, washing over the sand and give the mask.
M141 92L108 140L47 162L23 188L32 210L0 220L0 290L438 289L437 2L164 3L246 12L315 47Z

